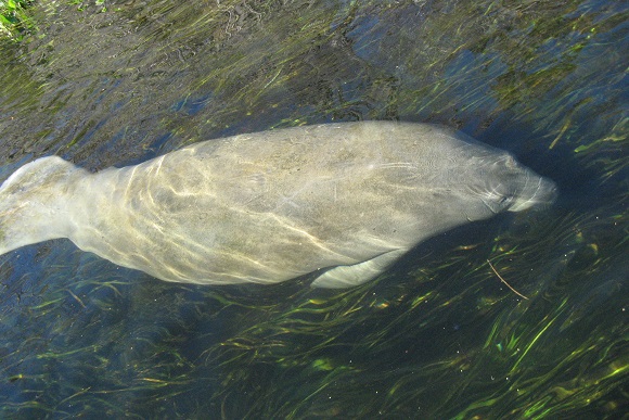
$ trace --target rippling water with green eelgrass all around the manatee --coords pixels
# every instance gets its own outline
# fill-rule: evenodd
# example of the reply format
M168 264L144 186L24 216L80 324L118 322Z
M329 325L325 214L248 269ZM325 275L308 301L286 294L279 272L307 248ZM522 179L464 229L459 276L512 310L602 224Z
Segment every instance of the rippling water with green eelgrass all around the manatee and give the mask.
M105 8L105 10L103 10ZM614 418L627 409L621 2L50 2L0 42L0 179L305 123L428 120L554 179L343 292L0 259L3 417ZM529 297L522 300L486 260Z

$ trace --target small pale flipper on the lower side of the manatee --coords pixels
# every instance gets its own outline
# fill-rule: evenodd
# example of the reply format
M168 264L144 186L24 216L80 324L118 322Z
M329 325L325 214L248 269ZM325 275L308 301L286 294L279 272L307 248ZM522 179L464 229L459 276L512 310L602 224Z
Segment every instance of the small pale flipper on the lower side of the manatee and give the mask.
M334 267L316 278L311 285L313 288L342 289L365 283L375 279L407 252L408 250L389 251L351 266Z

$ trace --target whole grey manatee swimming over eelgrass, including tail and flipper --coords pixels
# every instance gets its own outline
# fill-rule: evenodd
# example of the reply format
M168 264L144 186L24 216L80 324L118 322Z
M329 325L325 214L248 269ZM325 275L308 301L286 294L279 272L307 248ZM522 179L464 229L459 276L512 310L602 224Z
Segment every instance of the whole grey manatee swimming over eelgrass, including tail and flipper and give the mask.
M555 187L445 127L307 126L90 174L56 156L0 188L0 254L54 238L166 281L363 283L425 239L550 203Z

